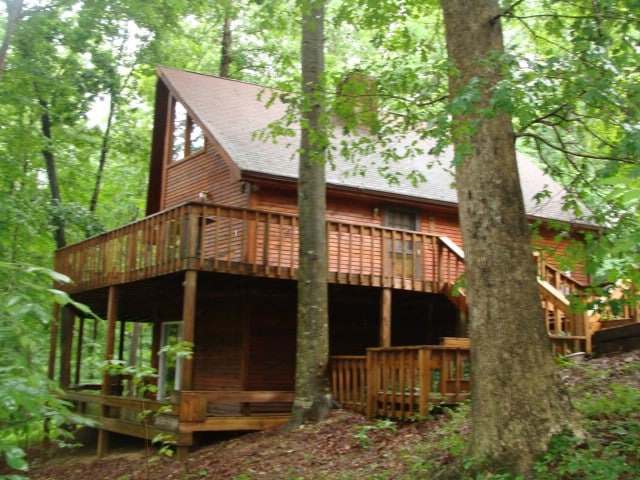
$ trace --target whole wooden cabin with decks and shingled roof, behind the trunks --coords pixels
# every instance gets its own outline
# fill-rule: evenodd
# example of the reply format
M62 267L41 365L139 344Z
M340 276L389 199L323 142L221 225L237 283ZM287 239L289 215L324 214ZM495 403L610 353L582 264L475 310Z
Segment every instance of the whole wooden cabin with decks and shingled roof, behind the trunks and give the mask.
M99 454L110 432L161 434L184 453L201 432L282 424L293 399L299 142L295 129L259 138L285 115L286 99L241 81L157 72L145 218L56 253L56 269L74 282L61 288L95 316L58 312L49 373L95 420ZM451 150L436 156L428 140L406 134L386 147L395 163L379 148L345 158L337 152L348 139L336 127L326 218L334 395L345 408L399 418L465 399ZM545 252L562 255L594 225L562 208L565 192L530 160L518 166L538 224L550 348L589 351L597 319L567 300L589 279L560 271ZM425 181L406 180L416 174ZM557 236L552 222L571 233ZM176 353L183 342L191 355ZM97 366L105 360L112 368Z

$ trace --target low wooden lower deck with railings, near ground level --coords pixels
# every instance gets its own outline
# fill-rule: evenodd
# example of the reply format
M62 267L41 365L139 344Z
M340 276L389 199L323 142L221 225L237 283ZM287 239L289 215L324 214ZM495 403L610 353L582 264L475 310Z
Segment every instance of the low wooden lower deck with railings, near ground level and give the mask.
M369 418L424 418L434 406L469 398L469 342L443 339L438 346L370 348L365 355L333 356L330 378L341 408ZM185 455L201 432L278 428L288 421L293 397L292 391L181 391L157 401L103 395L89 386L63 394L99 429L100 456L107 452L111 432L172 445ZM237 413L212 413L231 404L238 406Z

